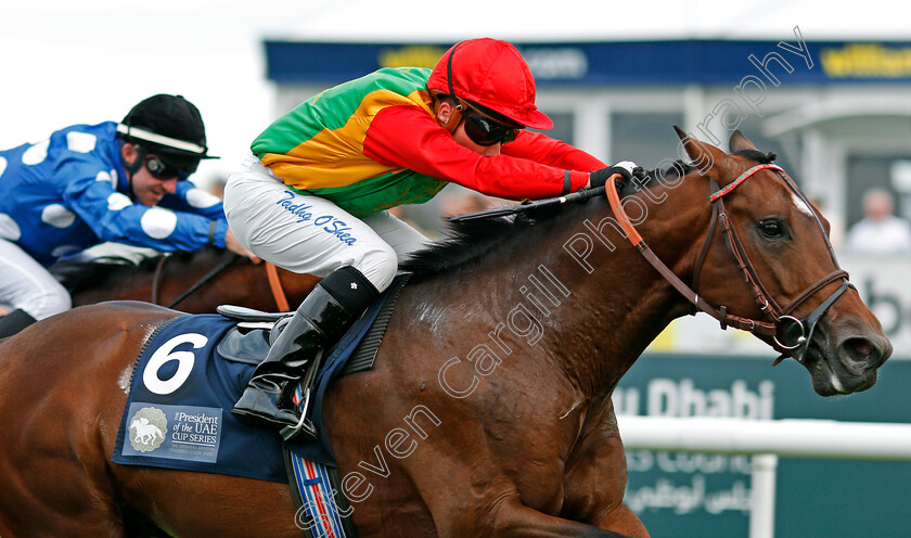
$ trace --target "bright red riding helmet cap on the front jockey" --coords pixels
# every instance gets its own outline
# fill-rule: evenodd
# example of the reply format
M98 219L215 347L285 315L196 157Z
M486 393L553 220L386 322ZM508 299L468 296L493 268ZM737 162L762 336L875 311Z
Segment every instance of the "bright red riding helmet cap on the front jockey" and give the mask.
M427 89L454 93L452 97L473 101L525 127L553 127L551 118L535 106L531 69L505 41L484 38L455 43L437 62Z

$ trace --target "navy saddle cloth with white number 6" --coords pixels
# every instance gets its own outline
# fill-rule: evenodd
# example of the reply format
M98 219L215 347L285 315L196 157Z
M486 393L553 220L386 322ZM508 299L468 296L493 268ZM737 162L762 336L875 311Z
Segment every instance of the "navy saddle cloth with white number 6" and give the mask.
M234 419L231 409L256 362L226 360L218 350L238 321L220 315L182 316L158 328L143 347L112 461L282 483L288 482L283 448L335 466L323 398L394 289L398 286L390 286L323 360L308 410L319 440L284 443L277 431L245 426ZM268 349L265 341L262 349Z

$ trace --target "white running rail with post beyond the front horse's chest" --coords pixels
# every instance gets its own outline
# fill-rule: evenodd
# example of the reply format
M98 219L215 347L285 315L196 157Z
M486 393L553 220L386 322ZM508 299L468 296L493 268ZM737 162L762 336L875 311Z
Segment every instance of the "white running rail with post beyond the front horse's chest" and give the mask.
M911 461L911 424L617 417L627 450L753 454L749 538L774 536L778 458Z

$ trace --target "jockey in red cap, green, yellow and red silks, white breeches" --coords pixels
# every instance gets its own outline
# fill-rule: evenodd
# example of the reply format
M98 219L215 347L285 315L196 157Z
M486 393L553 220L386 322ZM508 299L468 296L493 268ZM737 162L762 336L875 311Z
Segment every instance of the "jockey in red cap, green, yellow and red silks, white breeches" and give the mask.
M511 200L566 194L614 172L526 127L553 121L512 44L462 41L436 67L382 68L297 105L256 140L224 189L241 243L284 269L324 279L253 373L232 413L295 426L288 387L344 335L426 239L388 213L453 182Z

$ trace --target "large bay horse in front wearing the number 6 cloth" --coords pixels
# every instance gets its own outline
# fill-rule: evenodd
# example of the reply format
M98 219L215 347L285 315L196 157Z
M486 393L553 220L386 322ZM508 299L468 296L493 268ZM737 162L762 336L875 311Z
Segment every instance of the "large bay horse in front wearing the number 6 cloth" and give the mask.
M627 182L626 217L598 196L466 221L406 266L375 367L325 402L360 537L647 537L611 395L692 303L822 396L875 383L891 346L825 221L740 132L678 134L695 166ZM0 536L125 536L124 507L171 536L299 536L285 485L111 462L136 357L177 316L107 303L0 342Z

